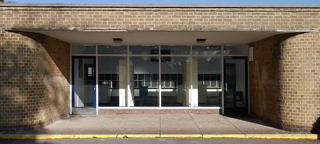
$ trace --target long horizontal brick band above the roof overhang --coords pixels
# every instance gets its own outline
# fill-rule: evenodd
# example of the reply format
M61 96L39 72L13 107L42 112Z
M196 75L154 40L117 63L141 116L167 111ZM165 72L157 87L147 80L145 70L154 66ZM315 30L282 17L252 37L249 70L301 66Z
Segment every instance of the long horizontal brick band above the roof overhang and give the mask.
M0 27L127 30L319 28L319 8L0 7Z

